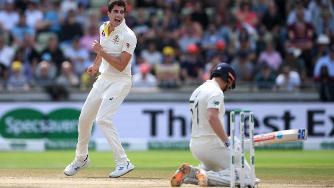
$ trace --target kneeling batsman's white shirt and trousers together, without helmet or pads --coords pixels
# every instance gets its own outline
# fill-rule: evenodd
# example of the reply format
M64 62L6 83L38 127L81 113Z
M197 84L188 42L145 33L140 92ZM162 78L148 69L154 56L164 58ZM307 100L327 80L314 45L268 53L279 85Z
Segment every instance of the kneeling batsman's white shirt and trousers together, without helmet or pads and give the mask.
M205 166L205 170L218 172L230 167L230 150L212 129L207 116L208 108L219 110L219 119L221 125L224 126L224 92L213 80L207 80L200 85L190 97L190 111L193 121L190 151ZM238 149L240 144L237 138L236 143L236 167L240 167L240 149ZM245 168L246 174L249 174L250 166L247 161Z

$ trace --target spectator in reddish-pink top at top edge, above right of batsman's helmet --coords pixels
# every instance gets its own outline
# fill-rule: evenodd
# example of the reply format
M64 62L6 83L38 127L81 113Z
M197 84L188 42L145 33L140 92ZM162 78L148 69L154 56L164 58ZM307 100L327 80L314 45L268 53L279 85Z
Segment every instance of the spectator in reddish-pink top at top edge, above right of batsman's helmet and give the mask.
M247 23L251 27L255 28L258 23L258 18L255 12L251 11L251 4L248 1L242 1L240 3L240 10L236 12L236 18L238 23L236 27L242 28L243 23Z

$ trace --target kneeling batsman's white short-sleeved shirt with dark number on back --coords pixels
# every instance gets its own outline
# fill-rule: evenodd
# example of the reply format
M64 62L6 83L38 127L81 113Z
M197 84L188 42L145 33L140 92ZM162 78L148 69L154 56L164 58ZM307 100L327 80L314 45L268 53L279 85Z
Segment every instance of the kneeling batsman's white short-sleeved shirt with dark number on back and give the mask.
M216 136L208 121L207 109L219 109L219 119L223 124L225 114L224 93L217 82L207 80L192 93L189 101L192 114L191 137Z

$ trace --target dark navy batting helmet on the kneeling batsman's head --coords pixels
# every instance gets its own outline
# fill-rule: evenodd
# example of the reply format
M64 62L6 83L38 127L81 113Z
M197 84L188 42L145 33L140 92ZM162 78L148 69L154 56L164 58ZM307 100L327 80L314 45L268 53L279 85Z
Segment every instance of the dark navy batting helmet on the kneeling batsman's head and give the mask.
M236 75L234 68L227 63L219 63L211 72L211 79L218 75L222 80L229 83L232 89L235 88ZM215 76L217 77L217 76Z

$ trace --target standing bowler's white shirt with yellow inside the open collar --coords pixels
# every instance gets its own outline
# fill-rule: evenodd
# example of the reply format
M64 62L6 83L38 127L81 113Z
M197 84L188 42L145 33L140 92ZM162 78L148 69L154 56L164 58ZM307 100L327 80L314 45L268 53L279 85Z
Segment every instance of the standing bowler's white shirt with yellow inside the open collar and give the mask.
M123 51L133 55L137 39L135 33L126 26L125 19L123 19L123 22L115 27L114 31L110 34L108 34L108 25L109 21L104 22L100 27L100 44L104 51L117 59L120 59ZM132 57L129 62L132 62ZM102 58L99 71L111 76L131 77L131 63L128 63L125 69L120 72Z

